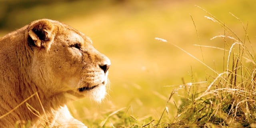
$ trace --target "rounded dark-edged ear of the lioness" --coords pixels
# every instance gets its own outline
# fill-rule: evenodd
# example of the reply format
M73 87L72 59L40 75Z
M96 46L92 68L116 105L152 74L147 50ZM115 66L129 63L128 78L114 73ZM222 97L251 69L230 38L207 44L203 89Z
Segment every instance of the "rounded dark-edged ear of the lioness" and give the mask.
M49 20L37 20L30 24L28 35L33 40L34 46L48 48L50 45L48 42L52 39L52 30L53 24Z

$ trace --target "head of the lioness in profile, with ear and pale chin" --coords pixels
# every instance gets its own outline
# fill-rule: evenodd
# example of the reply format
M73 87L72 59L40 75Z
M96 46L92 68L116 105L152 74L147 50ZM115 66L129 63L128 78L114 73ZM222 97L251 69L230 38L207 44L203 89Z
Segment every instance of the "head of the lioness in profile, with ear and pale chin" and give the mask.
M33 51L29 75L38 88L51 94L65 92L69 98L104 98L110 60L90 38L48 19L32 22L27 38Z

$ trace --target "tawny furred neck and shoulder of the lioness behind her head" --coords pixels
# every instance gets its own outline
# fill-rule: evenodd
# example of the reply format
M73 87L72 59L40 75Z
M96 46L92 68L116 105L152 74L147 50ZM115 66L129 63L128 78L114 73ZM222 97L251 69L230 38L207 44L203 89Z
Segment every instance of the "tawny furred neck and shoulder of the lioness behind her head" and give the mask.
M22 28L24 29L24 28ZM22 31L20 29L20 31ZM24 40L23 34L16 35ZM23 38L23 39L22 39ZM0 59L0 96L2 104L0 105L0 116L2 122L0 126L13 126L17 121L32 121L39 119L38 116L44 116L45 113L52 113L54 110L64 106L67 102L64 93L54 93L52 90L42 90L33 80L31 80L29 70L31 66L32 49L24 44L15 44L16 41L11 38L10 42L0 40L0 52L3 56ZM9 47L8 45L13 47ZM6 65L8 62L8 65Z

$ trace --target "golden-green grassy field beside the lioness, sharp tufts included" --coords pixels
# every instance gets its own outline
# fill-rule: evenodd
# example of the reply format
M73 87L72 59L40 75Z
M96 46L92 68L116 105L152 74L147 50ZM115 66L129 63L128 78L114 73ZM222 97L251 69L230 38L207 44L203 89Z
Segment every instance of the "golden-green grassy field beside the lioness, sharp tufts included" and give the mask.
M225 27L205 18L210 15L194 4L211 12ZM82 5L87 9L81 9ZM76 1L15 11L9 19L21 20L23 25L34 19L52 18L73 26L90 36L94 46L112 61L111 89L106 100L96 104L84 98L69 104L72 114L89 128L103 124L106 128L153 128L156 125L158 128L218 128L248 127L255 123L254 80L251 80L255 74L254 0L129 1L122 4ZM20 17L20 11L26 19ZM242 20L246 30L229 12ZM0 31L1 35L6 33L7 30ZM228 37L210 40L218 35L231 36L241 44L235 44L229 55L234 40ZM155 37L168 42L159 42ZM228 73L217 78L226 69ZM195 84L187 86L188 83ZM173 90L175 94L169 99ZM203 97L198 98L200 96Z

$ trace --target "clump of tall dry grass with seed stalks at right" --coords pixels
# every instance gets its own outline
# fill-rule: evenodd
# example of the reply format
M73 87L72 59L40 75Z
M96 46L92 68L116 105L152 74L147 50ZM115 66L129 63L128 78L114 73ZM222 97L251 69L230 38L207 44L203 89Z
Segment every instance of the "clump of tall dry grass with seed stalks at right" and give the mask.
M203 8L197 6L204 10ZM186 52L179 46L172 44L176 48L182 50L198 62L203 64L206 68L212 70L217 76L206 77L207 84L204 91L198 91L198 88L191 88L192 86L202 86L202 84L190 84L188 86L190 91L184 90L188 93L188 97L182 97L182 105L178 106L178 114L173 123L170 123L169 128L256 128L256 63L255 54L252 43L249 40L247 33L247 26L244 27L242 21L238 19L244 29L244 39L240 38L231 28L226 26L222 21L204 10L209 16L207 19L219 24L224 29L224 35L214 36L215 38L231 40L231 46L228 49L217 48L213 46L202 46L208 48L217 48L228 52L224 54L224 66L226 69L218 73L216 70L199 60L192 54ZM191 16L192 18L192 16ZM193 24L194 20L192 18ZM196 27L196 26L195 26ZM197 29L196 29L197 32ZM226 32L229 35L226 35ZM163 41L161 38L157 40ZM250 42L250 49L247 48L246 41ZM164 40L164 42L167 42ZM214 79L210 79L214 78Z

